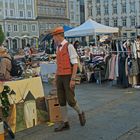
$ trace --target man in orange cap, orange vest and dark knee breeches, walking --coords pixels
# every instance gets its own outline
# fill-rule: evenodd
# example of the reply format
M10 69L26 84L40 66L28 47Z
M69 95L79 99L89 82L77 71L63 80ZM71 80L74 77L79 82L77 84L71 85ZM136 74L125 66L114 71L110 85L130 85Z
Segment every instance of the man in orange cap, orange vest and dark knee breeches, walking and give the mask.
M78 61L77 53L72 44L69 44L64 38L63 27L57 27L52 31L54 43L57 46L56 59L56 86L57 95L62 114L62 122L55 128L55 132L68 130L70 125L67 116L67 103L79 115L81 126L85 125L85 114L81 111L77 101L75 100L75 78L77 73Z

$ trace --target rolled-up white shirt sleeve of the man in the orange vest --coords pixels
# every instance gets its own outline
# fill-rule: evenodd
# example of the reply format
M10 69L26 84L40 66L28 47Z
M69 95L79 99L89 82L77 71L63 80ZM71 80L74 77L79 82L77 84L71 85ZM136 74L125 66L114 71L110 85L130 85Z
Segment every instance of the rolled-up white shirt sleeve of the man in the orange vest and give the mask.
M78 55L77 55L77 52L72 44L69 44L68 52L70 55L71 64L77 64L78 63L78 60L77 60Z

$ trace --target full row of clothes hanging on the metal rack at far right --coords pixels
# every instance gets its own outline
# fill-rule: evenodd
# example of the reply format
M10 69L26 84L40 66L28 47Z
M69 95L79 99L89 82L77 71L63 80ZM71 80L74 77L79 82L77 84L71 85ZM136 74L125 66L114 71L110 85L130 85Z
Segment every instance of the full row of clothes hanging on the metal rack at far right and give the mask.
M140 75L140 39L113 40L108 52L104 57L105 79L116 80L117 84L127 88L138 84ZM139 77L140 82L140 77Z

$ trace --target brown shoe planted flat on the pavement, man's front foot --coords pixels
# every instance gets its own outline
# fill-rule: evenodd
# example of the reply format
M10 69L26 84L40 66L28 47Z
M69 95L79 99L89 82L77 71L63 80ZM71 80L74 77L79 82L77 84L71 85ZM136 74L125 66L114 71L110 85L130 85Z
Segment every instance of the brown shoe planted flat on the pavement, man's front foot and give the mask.
M69 122L61 122L55 129L55 132L60 132L63 130L69 130L70 129L70 125Z

